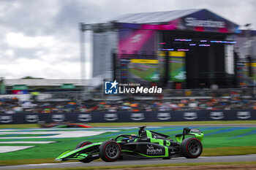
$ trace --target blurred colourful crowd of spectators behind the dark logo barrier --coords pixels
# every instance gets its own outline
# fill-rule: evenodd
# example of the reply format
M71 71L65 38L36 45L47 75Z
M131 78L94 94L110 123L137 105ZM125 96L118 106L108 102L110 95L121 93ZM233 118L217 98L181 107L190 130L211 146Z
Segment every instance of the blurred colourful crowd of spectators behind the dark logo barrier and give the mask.
M162 99L135 101L18 101L0 98L0 114L51 112L141 112L192 109L256 109L256 101L233 96L231 98Z

